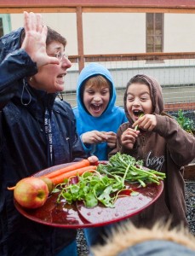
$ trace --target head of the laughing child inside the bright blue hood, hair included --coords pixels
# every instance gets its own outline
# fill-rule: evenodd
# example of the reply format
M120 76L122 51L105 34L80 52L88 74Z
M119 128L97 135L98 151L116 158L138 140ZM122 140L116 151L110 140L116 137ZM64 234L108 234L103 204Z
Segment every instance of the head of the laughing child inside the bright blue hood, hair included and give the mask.
M83 84L83 104L92 116L99 117L106 110L110 96L110 82L101 75L90 77Z

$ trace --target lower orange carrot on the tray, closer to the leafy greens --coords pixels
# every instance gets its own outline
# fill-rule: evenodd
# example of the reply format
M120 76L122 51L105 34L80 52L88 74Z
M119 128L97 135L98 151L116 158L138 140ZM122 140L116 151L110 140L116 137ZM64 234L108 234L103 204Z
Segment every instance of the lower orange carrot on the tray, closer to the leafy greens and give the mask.
M96 170L96 168L97 168L97 166L85 166L80 169L75 169L71 172L65 172L58 176L50 177L50 179L54 185L57 185L57 184L63 183L66 178L77 176L77 175L82 175L83 172L94 172Z

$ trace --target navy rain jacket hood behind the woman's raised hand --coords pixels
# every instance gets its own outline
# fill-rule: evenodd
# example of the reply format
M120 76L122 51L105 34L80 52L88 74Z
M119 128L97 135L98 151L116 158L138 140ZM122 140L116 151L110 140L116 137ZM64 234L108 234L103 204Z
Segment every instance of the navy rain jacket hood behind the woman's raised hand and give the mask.
M0 38L0 63L4 60L6 55L16 49L20 49L20 36L23 30L24 28L20 27Z

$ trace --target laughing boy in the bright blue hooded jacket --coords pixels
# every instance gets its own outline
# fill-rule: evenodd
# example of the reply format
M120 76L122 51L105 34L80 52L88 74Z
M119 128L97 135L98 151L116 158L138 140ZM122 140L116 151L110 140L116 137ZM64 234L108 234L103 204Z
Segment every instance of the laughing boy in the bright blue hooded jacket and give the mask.
M115 106L116 89L106 67L91 63L77 82L77 107L73 112L85 152L107 160L116 147L118 127L127 121L123 108Z

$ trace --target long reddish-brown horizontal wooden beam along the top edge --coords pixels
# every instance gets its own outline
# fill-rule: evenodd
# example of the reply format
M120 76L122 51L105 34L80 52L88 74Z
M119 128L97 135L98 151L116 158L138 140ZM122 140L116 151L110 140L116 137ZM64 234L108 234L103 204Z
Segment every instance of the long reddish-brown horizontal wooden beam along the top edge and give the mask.
M2 0L0 13L21 13L24 10L40 13L77 12L161 12L161 13L195 13L193 0Z

